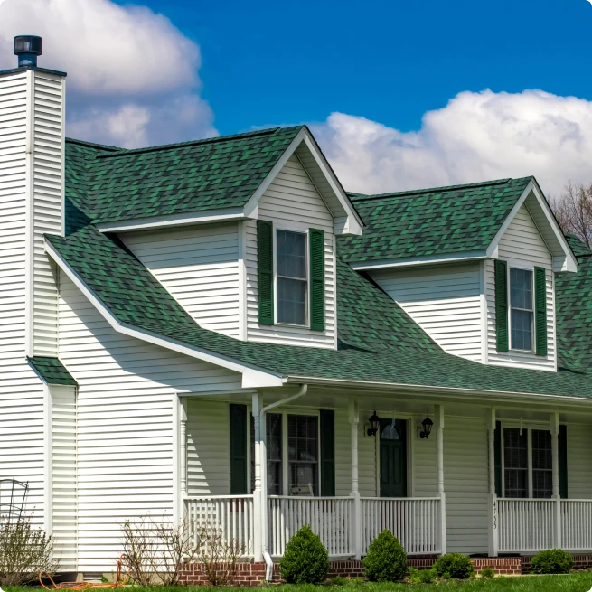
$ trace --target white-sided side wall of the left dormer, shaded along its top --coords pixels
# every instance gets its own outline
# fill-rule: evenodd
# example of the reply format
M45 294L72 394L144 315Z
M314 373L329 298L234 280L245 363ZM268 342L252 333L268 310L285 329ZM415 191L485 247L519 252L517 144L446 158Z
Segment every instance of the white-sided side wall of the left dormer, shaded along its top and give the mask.
M121 239L204 329L239 337L236 222L130 232Z

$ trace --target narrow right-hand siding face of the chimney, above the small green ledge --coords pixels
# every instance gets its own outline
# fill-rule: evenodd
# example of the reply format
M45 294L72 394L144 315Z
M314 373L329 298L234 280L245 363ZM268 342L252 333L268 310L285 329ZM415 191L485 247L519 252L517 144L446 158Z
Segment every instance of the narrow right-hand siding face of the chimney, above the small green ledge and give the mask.
M33 70L33 352L58 355L58 288L44 234L62 232L62 78Z

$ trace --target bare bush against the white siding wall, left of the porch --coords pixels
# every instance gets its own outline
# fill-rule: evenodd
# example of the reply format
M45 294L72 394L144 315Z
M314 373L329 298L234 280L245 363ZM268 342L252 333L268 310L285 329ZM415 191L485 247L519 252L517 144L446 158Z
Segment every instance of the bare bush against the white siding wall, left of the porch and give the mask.
M178 585L183 562L193 561L199 551L186 518L178 524L158 522L150 515L127 520L122 543L123 567L140 586Z

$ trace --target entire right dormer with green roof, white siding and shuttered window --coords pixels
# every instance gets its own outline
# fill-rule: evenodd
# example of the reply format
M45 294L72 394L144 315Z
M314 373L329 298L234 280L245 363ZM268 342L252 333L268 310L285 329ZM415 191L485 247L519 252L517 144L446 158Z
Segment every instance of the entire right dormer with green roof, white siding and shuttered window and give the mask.
M352 200L367 228L344 257L446 352L557 369L554 278L577 264L534 178Z

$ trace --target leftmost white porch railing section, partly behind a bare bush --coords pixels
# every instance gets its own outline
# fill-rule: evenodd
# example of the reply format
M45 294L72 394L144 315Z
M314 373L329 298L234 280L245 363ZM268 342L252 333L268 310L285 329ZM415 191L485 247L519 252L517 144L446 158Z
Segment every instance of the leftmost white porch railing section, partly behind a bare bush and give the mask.
M225 542L231 540L244 549L244 557L253 556L253 496L209 495L185 499L185 512L193 540L202 528L220 531Z

